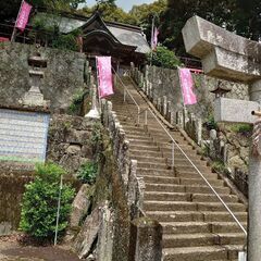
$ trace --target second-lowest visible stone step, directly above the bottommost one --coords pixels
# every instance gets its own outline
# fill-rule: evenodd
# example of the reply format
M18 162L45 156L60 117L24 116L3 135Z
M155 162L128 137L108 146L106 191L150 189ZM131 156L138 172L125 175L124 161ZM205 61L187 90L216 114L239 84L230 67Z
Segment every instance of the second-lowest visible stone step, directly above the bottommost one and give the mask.
M219 234L179 234L163 235L163 248L199 247L211 245L244 245L244 233L219 233Z

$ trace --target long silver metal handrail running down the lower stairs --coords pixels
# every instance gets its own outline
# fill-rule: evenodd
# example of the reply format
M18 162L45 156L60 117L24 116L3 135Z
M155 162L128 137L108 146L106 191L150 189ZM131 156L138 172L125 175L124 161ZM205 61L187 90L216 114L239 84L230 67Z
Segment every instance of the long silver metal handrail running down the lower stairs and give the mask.
M129 77L130 78L130 77ZM130 78L132 79L132 78ZM232 210L228 208L228 206L225 203L225 201L220 197L220 195L215 191L215 189L212 187L212 185L208 182L208 179L203 176L203 174L199 171L199 169L194 164L194 162L188 158L188 156L184 152L184 150L179 147L179 145L175 141L175 139L173 139L173 137L171 136L171 134L169 133L169 130L163 126L163 124L160 122L160 120L156 116L156 114L152 112L152 110L150 108L148 108L148 110L150 111L150 113L152 114L152 116L157 120L157 122L160 124L160 126L164 129L164 132L167 134L167 136L172 139L173 145L175 145L181 152L185 156L185 158L189 161L189 163L194 166L194 169L198 172L198 174L201 176L201 178L207 183L207 185L209 186L209 188L212 190L212 192L217 197L217 199L221 201L221 203L223 204L223 207L227 210L227 212L231 214L231 216L234 219L234 221L237 223L237 225L241 228L241 231L244 232L244 234L247 236L247 231L245 229L245 227L241 225L241 223L239 222L239 220L234 215L234 213L232 212ZM173 153L173 148L172 147L172 153ZM173 161L172 163L174 163L174 153L173 153Z

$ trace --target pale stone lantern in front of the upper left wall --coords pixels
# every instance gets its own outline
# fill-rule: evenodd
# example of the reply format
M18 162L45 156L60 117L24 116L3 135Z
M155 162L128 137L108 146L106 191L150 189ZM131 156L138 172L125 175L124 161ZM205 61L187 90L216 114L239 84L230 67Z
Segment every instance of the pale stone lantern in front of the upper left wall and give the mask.
M40 91L40 83L45 76L41 69L47 67L47 60L41 58L39 52L36 52L33 57L28 58L28 65L30 77L30 89L24 95L22 100L23 105L27 107L49 107L49 101L44 99L44 95Z

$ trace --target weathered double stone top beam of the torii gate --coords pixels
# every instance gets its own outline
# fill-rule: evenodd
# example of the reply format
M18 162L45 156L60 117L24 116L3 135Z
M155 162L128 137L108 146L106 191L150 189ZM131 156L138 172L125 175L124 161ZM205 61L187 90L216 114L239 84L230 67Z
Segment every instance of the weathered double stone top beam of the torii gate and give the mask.
M208 75L252 83L261 78L261 45L199 16L183 28L186 51L202 59Z

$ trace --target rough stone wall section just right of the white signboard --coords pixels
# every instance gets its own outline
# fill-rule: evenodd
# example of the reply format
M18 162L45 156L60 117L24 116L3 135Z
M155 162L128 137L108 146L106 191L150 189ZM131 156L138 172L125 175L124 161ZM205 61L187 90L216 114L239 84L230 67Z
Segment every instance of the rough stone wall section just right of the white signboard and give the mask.
M96 122L80 116L52 114L48 133L47 160L77 172L86 161L94 160L92 134Z

